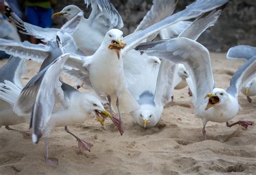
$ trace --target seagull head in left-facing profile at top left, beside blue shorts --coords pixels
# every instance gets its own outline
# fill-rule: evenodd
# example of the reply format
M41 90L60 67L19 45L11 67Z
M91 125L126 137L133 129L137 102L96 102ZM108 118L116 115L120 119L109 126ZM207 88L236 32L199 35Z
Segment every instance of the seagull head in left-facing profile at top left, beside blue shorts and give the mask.
M59 18L59 17L64 17L64 18L70 20L74 16L76 16L77 13L79 13L80 11L82 11L82 10L79 9L78 6L76 6L76 5L68 5L68 6L65 6L65 8L62 9L62 11L54 13L52 15L52 19L56 19L56 18Z

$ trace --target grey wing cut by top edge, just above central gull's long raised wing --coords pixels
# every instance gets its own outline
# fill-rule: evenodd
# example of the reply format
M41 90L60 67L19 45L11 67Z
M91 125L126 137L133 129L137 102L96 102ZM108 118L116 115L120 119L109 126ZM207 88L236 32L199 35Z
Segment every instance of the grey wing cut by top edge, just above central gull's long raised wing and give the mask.
M147 12L143 20L139 23L135 31L144 30L160 20L172 15L177 0L153 0L150 11Z

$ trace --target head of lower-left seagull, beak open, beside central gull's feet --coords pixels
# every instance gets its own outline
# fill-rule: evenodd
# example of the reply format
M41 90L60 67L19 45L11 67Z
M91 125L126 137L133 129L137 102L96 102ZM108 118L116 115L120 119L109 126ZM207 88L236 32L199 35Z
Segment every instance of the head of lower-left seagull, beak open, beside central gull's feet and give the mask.
M105 110L102 103L95 96L86 94L82 102L82 108L86 111L94 112L97 116L97 120L104 126L105 118L112 118L111 114Z

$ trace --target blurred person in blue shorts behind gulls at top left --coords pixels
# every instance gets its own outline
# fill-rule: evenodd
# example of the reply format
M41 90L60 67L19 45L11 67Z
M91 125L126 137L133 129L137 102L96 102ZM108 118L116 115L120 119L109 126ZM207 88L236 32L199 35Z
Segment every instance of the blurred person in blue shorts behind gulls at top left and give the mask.
M43 28L51 28L52 5L57 0L26 0L26 22ZM37 44L37 39L29 37L30 43Z

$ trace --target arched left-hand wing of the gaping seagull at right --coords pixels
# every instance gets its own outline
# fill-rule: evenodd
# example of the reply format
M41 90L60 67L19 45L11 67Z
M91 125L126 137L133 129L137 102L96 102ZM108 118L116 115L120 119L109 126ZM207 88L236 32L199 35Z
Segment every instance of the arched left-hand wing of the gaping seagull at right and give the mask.
M143 43L136 50L146 52L150 56L184 64L193 81L195 92L193 103L197 107L204 102L204 95L214 88L214 79L210 54L203 45L187 38L175 38L164 43Z

